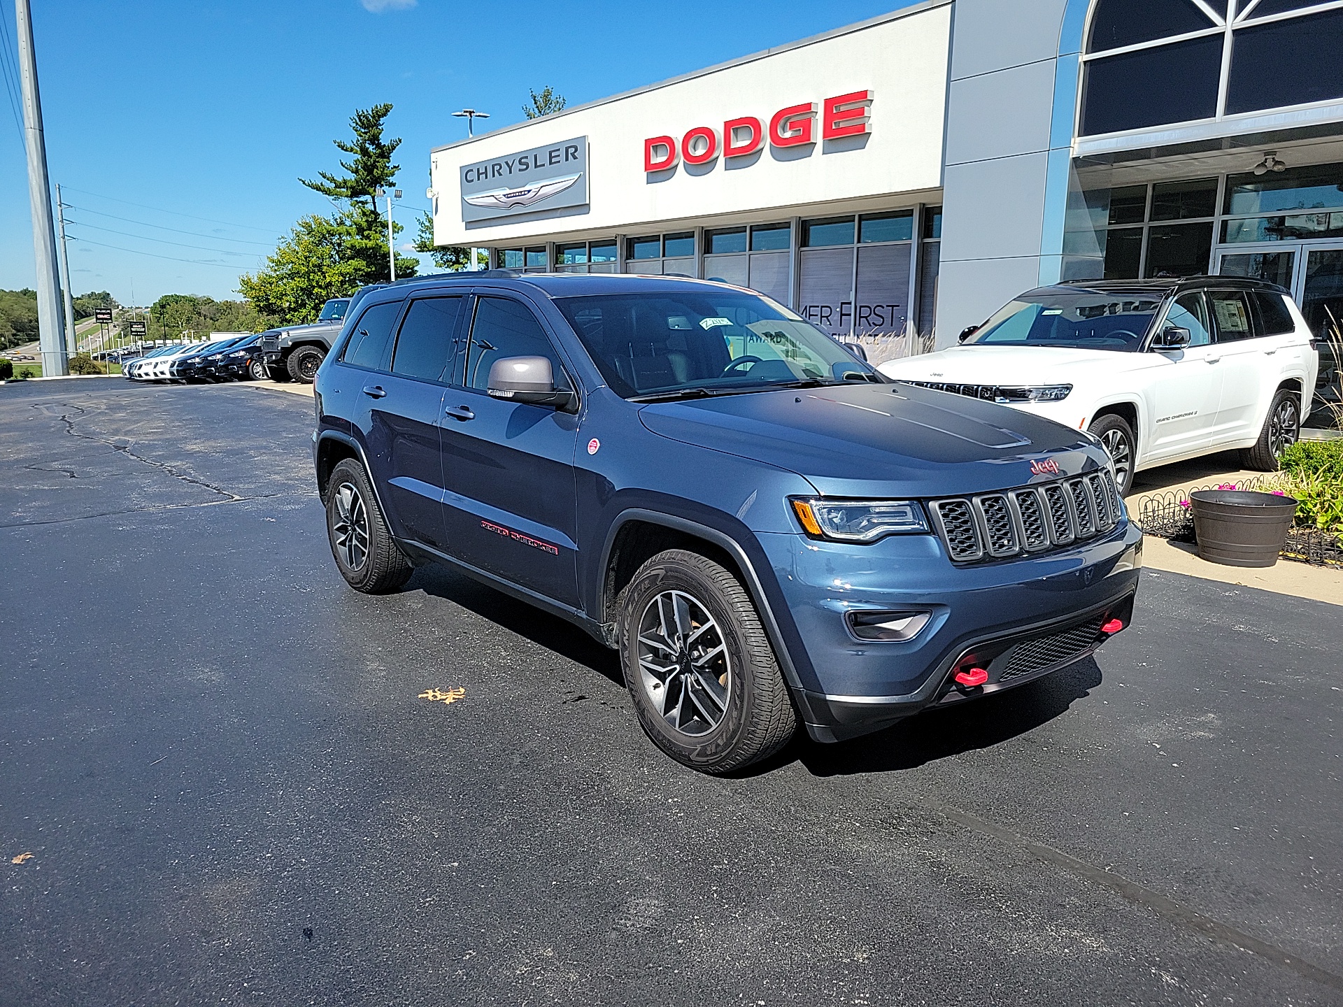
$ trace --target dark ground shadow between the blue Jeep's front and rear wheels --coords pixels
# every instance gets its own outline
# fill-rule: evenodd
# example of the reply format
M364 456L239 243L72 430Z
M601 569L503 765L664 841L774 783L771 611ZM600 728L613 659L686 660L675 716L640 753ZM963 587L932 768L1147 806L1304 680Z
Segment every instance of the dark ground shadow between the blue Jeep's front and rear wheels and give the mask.
M436 563L416 568L415 576L407 584L407 589L414 591L415 588L459 604L482 619L489 619L518 636L525 636L569 661L592 669L624 689L624 675L620 674L620 659L616 653L603 647L583 630L559 616L543 612L526 602L518 602L502 591L496 591Z

